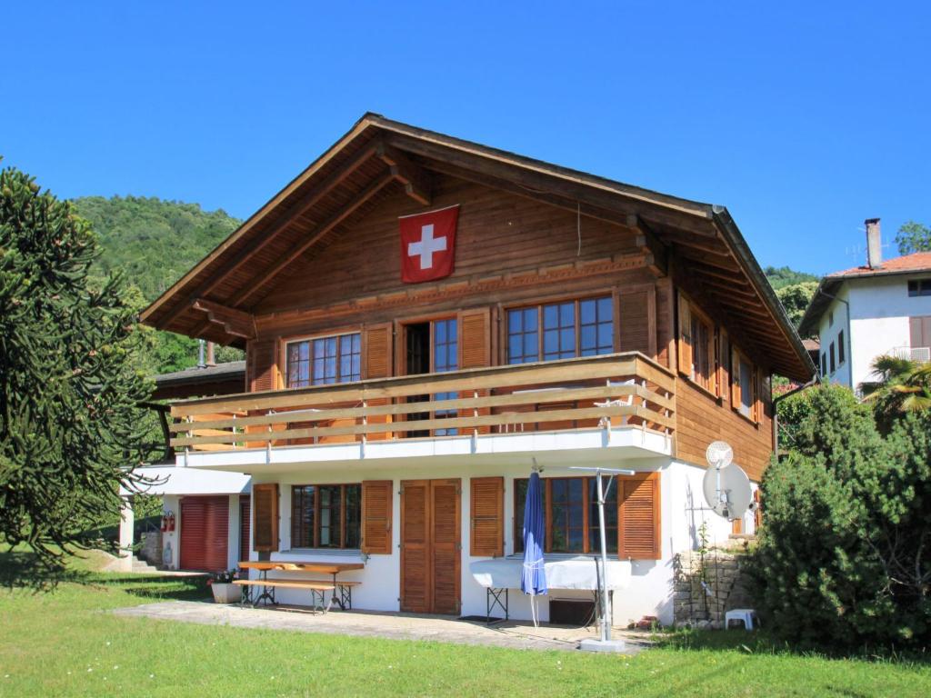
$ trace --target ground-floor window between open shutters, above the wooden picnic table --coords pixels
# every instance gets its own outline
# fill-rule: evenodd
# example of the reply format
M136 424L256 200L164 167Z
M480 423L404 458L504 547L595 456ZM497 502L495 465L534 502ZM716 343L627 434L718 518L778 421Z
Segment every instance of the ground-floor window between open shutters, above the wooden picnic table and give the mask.
M358 548L362 486L295 485L291 488L292 548Z

